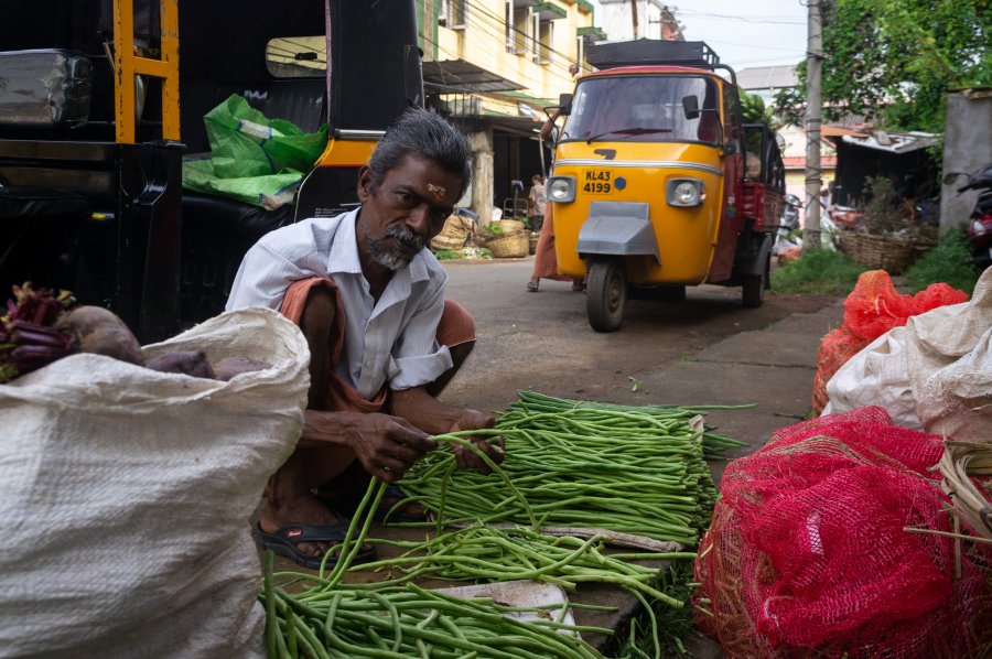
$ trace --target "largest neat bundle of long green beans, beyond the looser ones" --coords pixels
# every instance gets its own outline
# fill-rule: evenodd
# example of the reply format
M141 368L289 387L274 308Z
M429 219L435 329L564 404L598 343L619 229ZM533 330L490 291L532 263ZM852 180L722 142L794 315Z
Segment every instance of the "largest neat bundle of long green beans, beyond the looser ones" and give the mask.
M597 528L694 545L716 491L693 408L624 408L521 392L492 431L500 475L454 471L435 451L400 482L441 525L510 522ZM576 404L578 403L578 404ZM463 437L468 433L439 435ZM711 434L727 446L733 440Z

